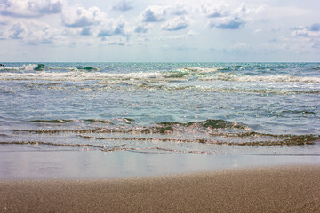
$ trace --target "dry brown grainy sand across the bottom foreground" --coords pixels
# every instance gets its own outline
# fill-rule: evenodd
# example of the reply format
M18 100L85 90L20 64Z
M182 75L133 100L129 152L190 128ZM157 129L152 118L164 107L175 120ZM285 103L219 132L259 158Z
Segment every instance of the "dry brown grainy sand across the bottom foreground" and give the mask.
M0 182L0 212L320 212L320 166Z

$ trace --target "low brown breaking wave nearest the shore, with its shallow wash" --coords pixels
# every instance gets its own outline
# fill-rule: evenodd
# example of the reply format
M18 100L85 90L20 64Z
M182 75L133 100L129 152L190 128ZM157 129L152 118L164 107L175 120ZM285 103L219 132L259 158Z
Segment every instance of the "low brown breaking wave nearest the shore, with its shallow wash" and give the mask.
M156 122L138 125L130 118L52 119L24 122L27 129L7 130L0 135L0 146L19 145L46 149L47 146L156 154L258 154L316 155L310 153L253 152L254 147L276 150L283 146L319 146L315 134L271 134L252 130L241 122L208 119L200 122ZM23 127L25 125L23 124ZM192 147L192 148L190 148ZM242 152L236 150L242 149ZM260 149L260 148L259 148ZM52 150L52 149L51 149Z

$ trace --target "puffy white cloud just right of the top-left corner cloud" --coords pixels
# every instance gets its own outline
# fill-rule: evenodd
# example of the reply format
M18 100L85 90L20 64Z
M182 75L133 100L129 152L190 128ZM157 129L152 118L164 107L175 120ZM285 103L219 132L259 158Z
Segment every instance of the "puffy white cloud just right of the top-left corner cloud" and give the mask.
M92 25L100 24L104 14L100 12L98 7L68 8L63 12L62 21L69 28L84 28Z

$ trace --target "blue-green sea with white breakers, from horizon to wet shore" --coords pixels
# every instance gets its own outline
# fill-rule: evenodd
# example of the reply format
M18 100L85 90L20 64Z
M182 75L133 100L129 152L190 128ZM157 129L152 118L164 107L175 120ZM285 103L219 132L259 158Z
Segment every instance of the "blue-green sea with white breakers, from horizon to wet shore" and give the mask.
M0 67L0 178L320 163L319 134L320 63Z

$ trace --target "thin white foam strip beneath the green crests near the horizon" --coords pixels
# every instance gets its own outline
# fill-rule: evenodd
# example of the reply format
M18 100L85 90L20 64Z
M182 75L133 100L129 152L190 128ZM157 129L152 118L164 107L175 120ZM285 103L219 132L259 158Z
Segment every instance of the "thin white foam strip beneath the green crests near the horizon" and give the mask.
M111 74L100 72L63 72L63 73L0 73L0 80L46 80L46 81L84 81L84 80L129 80L129 79L158 79L169 81L170 78L182 78L184 73L128 73ZM186 79L188 80L188 79ZM319 77L301 77L290 75L235 75L232 73L216 73L213 76L200 77L201 81L234 81L234 82L278 82L278 83L320 83Z

